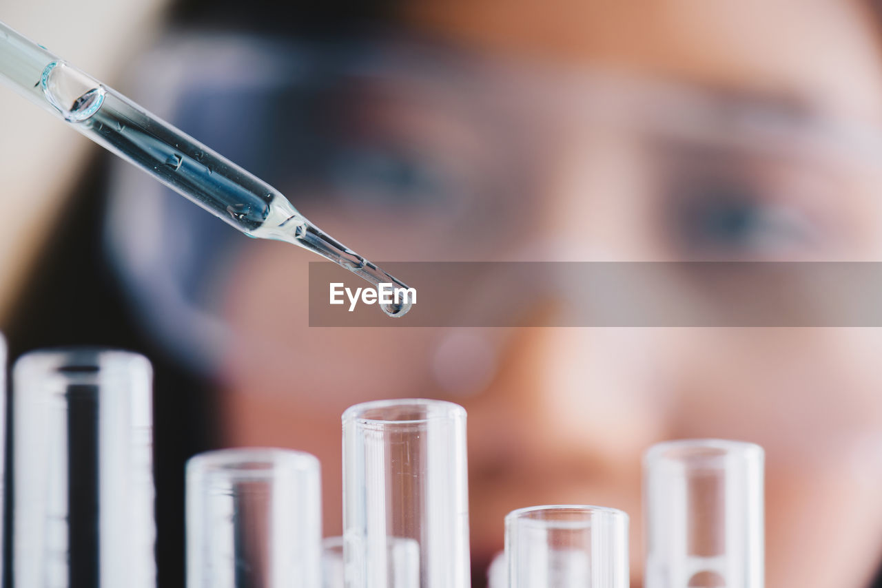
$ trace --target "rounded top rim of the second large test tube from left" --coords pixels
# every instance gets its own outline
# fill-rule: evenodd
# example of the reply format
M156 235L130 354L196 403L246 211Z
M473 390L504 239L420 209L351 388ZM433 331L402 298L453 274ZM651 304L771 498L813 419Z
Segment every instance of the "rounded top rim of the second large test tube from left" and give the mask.
M244 467L244 464L264 467ZM280 467L290 467L288 471L309 472L318 470L320 464L311 453L281 447L228 447L203 451L187 460L188 473L224 473L235 479L269 477L279 472Z

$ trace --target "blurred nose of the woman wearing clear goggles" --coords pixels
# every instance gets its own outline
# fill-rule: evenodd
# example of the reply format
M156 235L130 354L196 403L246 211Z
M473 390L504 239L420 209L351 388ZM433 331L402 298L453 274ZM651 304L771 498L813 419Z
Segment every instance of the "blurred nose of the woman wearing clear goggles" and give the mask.
M539 195L542 228L522 242L519 259L658 258L646 161L634 138L598 126L562 134L557 144ZM590 271L581 264L564 267ZM544 302L536 301L537 312L547 310L538 308ZM495 447L490 455L516 452L533 468L554 464L575 475L631 475L640 452L665 428L654 394L664 385L665 346L653 331L536 328L512 331L504 346L499 376L470 407L472 435L480 438L475 445Z

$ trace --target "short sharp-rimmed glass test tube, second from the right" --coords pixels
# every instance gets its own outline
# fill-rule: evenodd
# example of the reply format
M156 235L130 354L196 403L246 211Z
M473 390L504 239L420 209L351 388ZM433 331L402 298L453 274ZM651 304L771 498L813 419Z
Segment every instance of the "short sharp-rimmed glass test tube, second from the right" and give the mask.
M628 515L534 506L505 517L510 588L628 588Z

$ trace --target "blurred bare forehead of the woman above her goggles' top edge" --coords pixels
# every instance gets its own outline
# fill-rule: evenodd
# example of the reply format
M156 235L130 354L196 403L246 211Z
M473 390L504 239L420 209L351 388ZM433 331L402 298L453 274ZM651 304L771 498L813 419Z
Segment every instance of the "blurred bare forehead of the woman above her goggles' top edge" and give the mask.
M867 2L869 4L869 0ZM422 30L504 55L782 95L882 123L882 56L853 0L421 0Z

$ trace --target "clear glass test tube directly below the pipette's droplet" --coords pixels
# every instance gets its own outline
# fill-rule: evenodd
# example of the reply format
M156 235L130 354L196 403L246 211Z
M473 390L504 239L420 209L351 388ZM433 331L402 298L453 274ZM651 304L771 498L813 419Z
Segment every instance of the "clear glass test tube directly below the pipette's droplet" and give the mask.
M348 588L470 585L462 406L380 400L343 413L343 530Z

